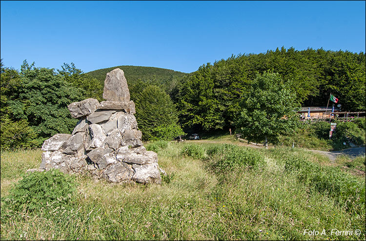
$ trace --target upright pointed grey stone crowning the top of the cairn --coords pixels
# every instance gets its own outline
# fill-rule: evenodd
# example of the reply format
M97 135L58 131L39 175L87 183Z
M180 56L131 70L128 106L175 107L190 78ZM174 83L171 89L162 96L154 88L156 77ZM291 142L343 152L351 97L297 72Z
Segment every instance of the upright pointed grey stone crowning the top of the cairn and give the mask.
M117 102L130 101L127 80L121 69L114 69L107 73L107 77L104 80L103 98Z

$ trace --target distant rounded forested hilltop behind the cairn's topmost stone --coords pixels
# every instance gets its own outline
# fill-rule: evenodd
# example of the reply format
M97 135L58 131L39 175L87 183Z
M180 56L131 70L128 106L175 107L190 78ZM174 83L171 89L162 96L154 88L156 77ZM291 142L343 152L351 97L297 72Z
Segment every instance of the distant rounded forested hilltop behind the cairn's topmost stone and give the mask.
M120 68L121 70L123 70L124 75L126 76L126 79L129 82L141 79L141 80L156 80L160 83L166 83L176 78L180 79L185 75L185 73L174 70L168 70L156 67L131 66L131 65L121 65L95 70L88 72L86 74L89 74L91 77L98 79L99 81L101 81L102 86L104 86L104 80L106 74L116 68Z

